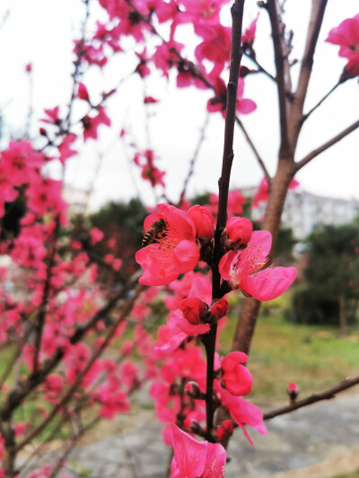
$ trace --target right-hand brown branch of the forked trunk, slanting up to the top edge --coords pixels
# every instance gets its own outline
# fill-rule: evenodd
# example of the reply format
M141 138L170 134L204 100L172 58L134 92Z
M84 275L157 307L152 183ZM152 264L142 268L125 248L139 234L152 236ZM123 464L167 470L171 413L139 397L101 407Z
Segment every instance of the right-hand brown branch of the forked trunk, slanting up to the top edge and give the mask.
M311 19L307 32L306 45L302 56L301 71L299 74L298 86L293 95L293 106L291 109L289 139L292 145L298 141L302 127L302 110L307 97L308 85L311 79L313 57L320 34L321 24L328 0L312 0Z

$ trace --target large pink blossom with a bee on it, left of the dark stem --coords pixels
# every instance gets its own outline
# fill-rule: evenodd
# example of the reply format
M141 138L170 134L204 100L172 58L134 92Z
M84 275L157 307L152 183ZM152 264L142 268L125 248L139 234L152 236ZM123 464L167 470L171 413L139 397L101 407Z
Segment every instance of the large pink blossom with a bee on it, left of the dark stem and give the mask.
M188 213L169 204L159 204L157 210L144 220L144 230L162 220L166 224L162 237L136 252L136 262L144 269L139 282L144 285L168 284L194 269L199 260L196 227Z

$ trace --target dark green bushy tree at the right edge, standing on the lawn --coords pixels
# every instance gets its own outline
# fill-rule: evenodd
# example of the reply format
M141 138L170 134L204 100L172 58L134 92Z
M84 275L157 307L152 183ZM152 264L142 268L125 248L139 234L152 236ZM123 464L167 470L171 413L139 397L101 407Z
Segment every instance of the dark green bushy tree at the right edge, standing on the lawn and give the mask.
M343 334L355 321L359 298L359 227L324 226L307 240L305 285L293 296L298 322L339 324Z

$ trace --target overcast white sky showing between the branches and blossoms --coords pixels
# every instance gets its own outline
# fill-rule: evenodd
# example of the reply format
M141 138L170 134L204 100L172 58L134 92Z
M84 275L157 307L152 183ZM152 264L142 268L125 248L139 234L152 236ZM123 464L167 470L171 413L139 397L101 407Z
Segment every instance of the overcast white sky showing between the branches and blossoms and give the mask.
M95 4L96 0L92 0ZM255 17L257 2L246 3L245 25ZM294 57L300 57L305 26L308 21L310 0L287 0L285 21L294 30ZM96 12L100 9L95 8ZM2 0L0 19L9 11L9 17L0 30L0 109L3 112L3 142L8 135L24 131L29 109L29 83L24 65L33 64L33 132L39 127L37 118L43 117L44 108L60 105L64 110L71 86L73 59L72 39L79 29L83 4L80 0ZM324 42L328 30L359 12L357 0L328 1L328 9L321 31L319 48L315 56L313 77L306 109L310 109L336 82L346 61L337 57L337 47ZM229 21L229 17L228 17ZM189 30L181 31L186 41ZM134 45L129 41L129 45ZM267 15L263 11L258 20L256 39L258 60L273 72L272 45ZM134 67L125 56L118 56L113 65L103 72L93 69L84 77L94 97L109 90L118 79L127 76ZM250 65L250 64L248 64ZM295 77L298 71L293 66ZM208 91L185 89L176 91L174 77L170 82L155 75L146 85L147 93L161 100L151 108L151 143L161 157L158 166L167 171L168 195L176 201L183 179L187 175L188 161L193 155L201 126L206 117ZM276 168L278 149L276 89L262 75L252 75L246 82L245 97L255 100L258 109L241 119L248 128L253 142L271 173ZM147 147L144 134L143 84L131 77L109 102L109 115L113 126L103 127L101 141L90 140L80 147L80 156L69 161L66 180L76 187L89 187L96 175L92 208L109 199L127 200L136 196L136 185L130 173L128 155L118 142L122 126L130 126L136 142ZM77 111L78 117L83 115ZM323 106L313 113L303 128L297 159L318 147L359 116L358 83L356 80L341 86ZM189 185L189 196L207 190L216 192L223 149L223 119L219 114L210 117L206 143L198 157L196 175ZM235 161L232 188L258 184L262 172L245 143L241 131L235 135ZM103 160L98 174L99 154ZM359 199L359 130L341 143L323 153L302 169L297 178L303 189L324 196L355 197ZM136 180L140 195L147 203L153 202L150 187Z

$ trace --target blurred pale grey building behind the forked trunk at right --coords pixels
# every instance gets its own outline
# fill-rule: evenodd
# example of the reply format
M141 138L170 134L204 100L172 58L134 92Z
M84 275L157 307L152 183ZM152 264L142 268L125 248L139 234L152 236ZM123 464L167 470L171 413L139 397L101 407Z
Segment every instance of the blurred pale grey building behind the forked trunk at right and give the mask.
M253 190L248 188L243 191L243 194L252 196L250 192ZM266 204L260 204L253 211L254 220L263 216L265 207ZM316 196L296 189L288 191L282 224L293 229L295 238L303 239L321 224L339 226L353 222L358 215L358 200Z

